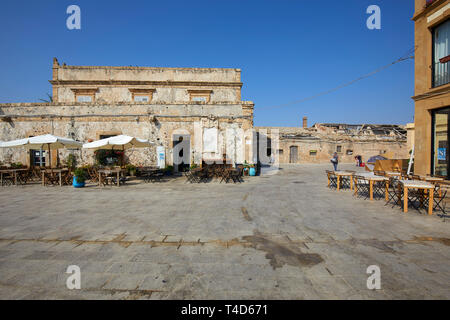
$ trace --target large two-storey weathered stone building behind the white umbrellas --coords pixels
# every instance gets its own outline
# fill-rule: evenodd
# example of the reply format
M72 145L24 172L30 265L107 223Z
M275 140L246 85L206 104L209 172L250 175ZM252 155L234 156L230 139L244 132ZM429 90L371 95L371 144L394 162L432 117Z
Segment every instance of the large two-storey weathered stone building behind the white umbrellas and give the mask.
M0 141L51 133L88 142L126 134L164 147L167 165L180 141L187 164L224 153L233 162L252 159L252 135L242 132L253 127L254 105L241 101L240 69L68 66L55 58L50 83L52 102L0 104ZM205 149L211 128L219 147ZM127 152L129 161L155 164L156 146ZM36 152L0 149L0 161L34 165ZM93 162L91 151L61 151L61 158L68 152Z

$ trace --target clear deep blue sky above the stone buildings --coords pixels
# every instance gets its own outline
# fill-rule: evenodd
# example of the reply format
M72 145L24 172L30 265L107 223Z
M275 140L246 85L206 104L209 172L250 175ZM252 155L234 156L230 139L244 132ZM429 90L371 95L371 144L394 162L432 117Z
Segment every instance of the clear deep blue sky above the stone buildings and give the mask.
M81 8L81 30L66 8ZM366 9L381 8L381 30ZM414 61L290 105L384 66L414 46L412 0L2 1L0 103L51 92L52 58L69 65L242 69L255 125L413 121Z

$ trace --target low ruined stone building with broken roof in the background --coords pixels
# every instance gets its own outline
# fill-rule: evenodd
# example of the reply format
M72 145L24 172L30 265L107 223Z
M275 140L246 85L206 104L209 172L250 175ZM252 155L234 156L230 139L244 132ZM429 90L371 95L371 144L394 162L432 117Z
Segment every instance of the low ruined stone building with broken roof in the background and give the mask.
M363 161L384 155L390 159L407 159L407 131L403 126L375 124L319 123L307 127L255 127L269 138L268 153L278 152L283 163L329 163L334 152L340 162L351 163L356 155ZM278 139L271 139L272 134ZM277 150L274 150L274 149Z

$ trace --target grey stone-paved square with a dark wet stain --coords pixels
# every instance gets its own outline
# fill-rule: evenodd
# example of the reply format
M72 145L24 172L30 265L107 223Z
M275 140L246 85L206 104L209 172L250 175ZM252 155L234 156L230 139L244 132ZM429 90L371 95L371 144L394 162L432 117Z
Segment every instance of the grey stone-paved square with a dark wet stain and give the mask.
M450 221L330 190L325 169L2 187L0 298L449 299ZM66 287L69 265L80 290ZM380 290L367 289L370 265Z

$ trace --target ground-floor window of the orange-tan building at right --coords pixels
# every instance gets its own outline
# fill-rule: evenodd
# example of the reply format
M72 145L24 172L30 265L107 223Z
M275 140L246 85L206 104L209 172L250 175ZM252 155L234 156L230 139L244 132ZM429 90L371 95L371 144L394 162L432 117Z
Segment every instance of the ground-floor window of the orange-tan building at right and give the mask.
M432 173L440 176L449 176L448 140L449 140L449 114L450 108L433 112L433 150Z

